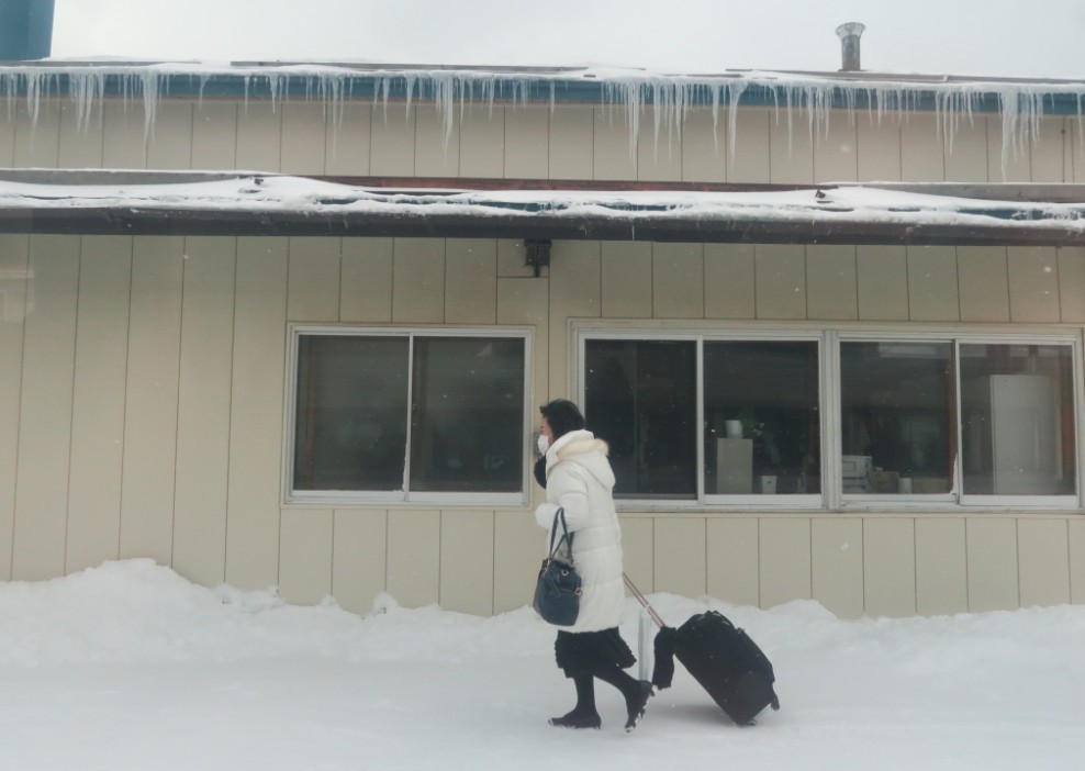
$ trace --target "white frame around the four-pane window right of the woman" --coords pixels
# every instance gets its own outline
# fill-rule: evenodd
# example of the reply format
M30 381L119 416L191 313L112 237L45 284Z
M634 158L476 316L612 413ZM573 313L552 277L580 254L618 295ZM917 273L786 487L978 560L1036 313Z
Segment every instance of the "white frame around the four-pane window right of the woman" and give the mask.
M622 498L616 503L624 511L653 510L820 510L820 511L1018 511L1018 510L1056 510L1082 511L1083 489L1085 489L1085 449L1082 447L1082 420L1085 414L1085 394L1083 394L1083 348L1081 331L1037 331L1027 332L980 332L953 328L924 329L883 329L862 331L846 327L819 328L772 328L772 329L713 329L708 327L691 328L629 328L627 324L620 327L583 326L573 332L573 343L577 351L577 368L573 375L573 392L580 403L586 396L585 358L588 340L683 340L696 344L696 421L700 426L696 462L697 482L696 500L657 500ZM717 495L706 494L704 474L704 344L715 340L748 342L748 340L816 340L818 343L818 383L820 431L821 431L821 492L794 495ZM952 485L949 493L938 494L875 494L875 493L843 493L841 477L841 391L840 391L840 344L864 342L898 342L898 343L948 343L952 348L954 388L957 390L957 461L952 469ZM975 495L963 493L963 471L961 468L962 443L961 435L961 383L960 383L960 349L962 345L1058 345L1067 346L1072 356L1072 389L1074 405L1074 451L1075 457L1075 492L1067 495Z

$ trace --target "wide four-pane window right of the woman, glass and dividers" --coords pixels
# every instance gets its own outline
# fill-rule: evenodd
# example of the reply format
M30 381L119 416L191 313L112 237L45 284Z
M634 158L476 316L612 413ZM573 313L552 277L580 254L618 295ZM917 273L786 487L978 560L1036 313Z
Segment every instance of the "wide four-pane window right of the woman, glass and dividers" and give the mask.
M619 499L1080 506L1078 344L846 331L583 331Z

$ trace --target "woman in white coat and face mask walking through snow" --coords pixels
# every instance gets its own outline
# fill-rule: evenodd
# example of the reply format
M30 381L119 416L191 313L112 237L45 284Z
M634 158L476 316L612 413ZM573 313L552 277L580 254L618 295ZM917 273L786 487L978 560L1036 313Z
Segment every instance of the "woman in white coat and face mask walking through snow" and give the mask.
M577 686L577 705L561 717L551 717L550 725L599 728L597 678L622 692L625 728L633 730L645 715L652 688L647 680L625 672L636 658L618 634L625 603L622 529L614 510L614 472L606 459L606 443L584 429L584 416L566 399L546 404L540 412L539 449L546 458L545 480L540 481L546 484L546 503L535 510L535 519L549 532L558 509L564 509L573 563L583 579L577 623L559 629L553 646L558 668Z

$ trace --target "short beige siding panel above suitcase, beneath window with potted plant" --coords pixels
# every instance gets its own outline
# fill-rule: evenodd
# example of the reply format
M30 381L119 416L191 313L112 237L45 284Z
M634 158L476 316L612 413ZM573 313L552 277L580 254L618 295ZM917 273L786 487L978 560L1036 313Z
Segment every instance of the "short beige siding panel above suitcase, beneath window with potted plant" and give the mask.
M758 521L756 517L709 519L706 590L737 605L758 605Z

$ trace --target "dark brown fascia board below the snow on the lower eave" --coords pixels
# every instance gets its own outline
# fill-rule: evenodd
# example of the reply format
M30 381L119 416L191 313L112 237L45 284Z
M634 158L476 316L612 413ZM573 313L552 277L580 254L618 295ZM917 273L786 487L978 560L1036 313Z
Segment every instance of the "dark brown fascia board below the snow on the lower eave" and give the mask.
M1027 223L961 226L868 221L569 216L548 213L474 216L401 211L245 212L161 208L0 209L0 232L67 235L328 236L549 238L740 244L896 244L916 246L1085 246L1077 228Z

